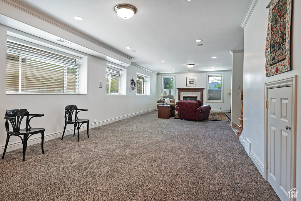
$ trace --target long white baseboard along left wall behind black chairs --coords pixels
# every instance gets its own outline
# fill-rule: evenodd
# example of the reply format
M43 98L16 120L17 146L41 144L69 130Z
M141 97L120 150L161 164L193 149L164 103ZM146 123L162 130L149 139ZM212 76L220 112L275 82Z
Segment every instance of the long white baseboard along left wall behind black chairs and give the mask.
M136 113L133 113L133 114L130 114L130 115L124 115L124 116L121 116L121 117L116 117L116 118L113 118L113 119L108 119L108 120L105 120L105 121L100 121L100 122L97 122L97 123L89 124L89 128L95 128L95 127L102 126L102 125L105 125L105 124L110 124L110 123L112 123L114 121L119 121L119 120L122 120L122 119L131 118L131 117L134 117L134 116L137 116L137 115L142 115L144 113L151 112L151 111L156 111L156 110L157 110L157 108L154 108L154 109L150 109L150 110L136 112ZM71 129L66 129L64 136L73 134L73 130L74 130L74 127L72 127ZM80 128L80 131L83 131L83 130L87 130L87 125L86 124L83 125ZM63 131L64 130L61 130L61 131L58 131L58 132L55 132L55 133L45 134L45 136L44 136L44 142L47 141L47 140L52 140L52 139L58 138L58 137L61 138L62 135L63 135ZM36 135L36 136L33 135L27 141L27 145L28 146L36 144L36 143L41 143L41 135ZM4 148L5 148L5 145L0 146L0 154L3 153ZM9 152L9 151L12 151L12 150L15 150L15 149L20 149L20 148L23 148L23 144L22 144L21 140L19 142L8 143L6 152Z

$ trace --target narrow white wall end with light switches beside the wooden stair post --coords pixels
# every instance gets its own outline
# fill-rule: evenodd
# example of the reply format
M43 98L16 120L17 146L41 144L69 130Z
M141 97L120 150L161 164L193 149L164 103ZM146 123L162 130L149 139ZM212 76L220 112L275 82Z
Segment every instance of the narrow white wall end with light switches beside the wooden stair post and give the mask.
M244 52L232 51L232 102L231 102L231 125L237 126L240 124L240 108L241 99L237 92L243 88L243 77L244 77ZM240 89L237 90L237 86Z

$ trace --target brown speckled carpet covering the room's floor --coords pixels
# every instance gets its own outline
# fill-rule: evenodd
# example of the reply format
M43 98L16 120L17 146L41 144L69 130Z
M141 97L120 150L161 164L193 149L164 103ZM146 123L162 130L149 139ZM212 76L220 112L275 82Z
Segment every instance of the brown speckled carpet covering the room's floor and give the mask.
M47 132L47 131L46 131ZM1 200L279 200L229 122L157 111L0 159ZM0 155L2 157L2 155Z

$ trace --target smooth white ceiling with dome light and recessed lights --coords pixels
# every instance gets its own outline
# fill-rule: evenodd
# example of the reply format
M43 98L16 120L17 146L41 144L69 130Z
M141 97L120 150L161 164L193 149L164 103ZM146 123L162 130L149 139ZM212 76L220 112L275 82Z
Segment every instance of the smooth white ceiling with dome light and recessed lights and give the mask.
M244 49L244 30L240 24L251 2L17 1L132 57L132 63L156 73L231 70L230 51ZM121 19L114 7L123 3L134 5L138 12L130 19ZM83 17L84 20L74 20L74 16ZM196 39L203 41L194 42ZM132 52L134 50L137 52ZM217 58L211 58L213 56ZM188 69L186 64L191 63L195 66Z

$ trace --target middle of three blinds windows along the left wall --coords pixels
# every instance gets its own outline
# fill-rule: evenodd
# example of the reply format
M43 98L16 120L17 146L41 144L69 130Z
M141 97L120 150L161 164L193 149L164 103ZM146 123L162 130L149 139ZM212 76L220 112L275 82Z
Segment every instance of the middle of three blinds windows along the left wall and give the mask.
M107 67L107 94L121 94L121 69Z

